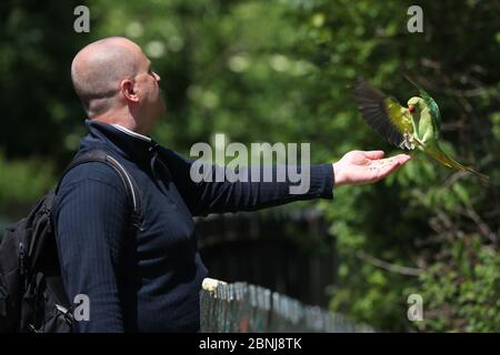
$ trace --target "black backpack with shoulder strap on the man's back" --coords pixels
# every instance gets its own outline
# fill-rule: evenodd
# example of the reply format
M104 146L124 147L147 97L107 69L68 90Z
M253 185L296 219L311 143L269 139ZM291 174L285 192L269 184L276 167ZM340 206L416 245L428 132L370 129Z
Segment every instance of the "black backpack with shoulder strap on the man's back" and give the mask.
M58 185L36 203L29 215L7 227L0 244L0 332L72 331L73 315L62 285L51 211L62 178L88 162L106 163L117 171L131 201L132 226L139 226L140 199L132 176L104 151L79 154Z

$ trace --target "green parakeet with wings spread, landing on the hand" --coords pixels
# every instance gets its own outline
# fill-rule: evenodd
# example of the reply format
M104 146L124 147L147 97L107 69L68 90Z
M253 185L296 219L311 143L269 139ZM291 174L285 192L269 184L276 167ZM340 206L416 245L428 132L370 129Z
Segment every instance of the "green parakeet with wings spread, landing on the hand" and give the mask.
M448 168L468 171L488 180L487 175L460 164L441 150L439 106L423 89L416 87L420 97L408 100L408 108L362 79L358 80L353 94L364 121L389 143L407 150L418 148Z

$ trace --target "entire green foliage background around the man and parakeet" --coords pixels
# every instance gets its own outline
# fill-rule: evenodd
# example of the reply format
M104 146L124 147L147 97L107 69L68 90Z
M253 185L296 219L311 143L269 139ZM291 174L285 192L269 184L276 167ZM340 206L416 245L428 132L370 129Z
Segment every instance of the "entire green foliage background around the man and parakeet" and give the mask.
M183 153L219 132L311 142L313 162L396 153L363 123L350 87L363 75L404 102L416 94L408 71L440 104L444 149L491 183L412 153L384 182L336 190L319 203L340 254L331 308L388 331L500 329L498 2L420 1L423 33L407 31L411 1L87 4L89 34L72 31L73 1L0 4L1 213L41 194L84 133L69 68L92 40L126 36L144 49L168 106L153 136ZM48 160L53 175L36 164ZM423 322L407 320L411 293L423 297Z

